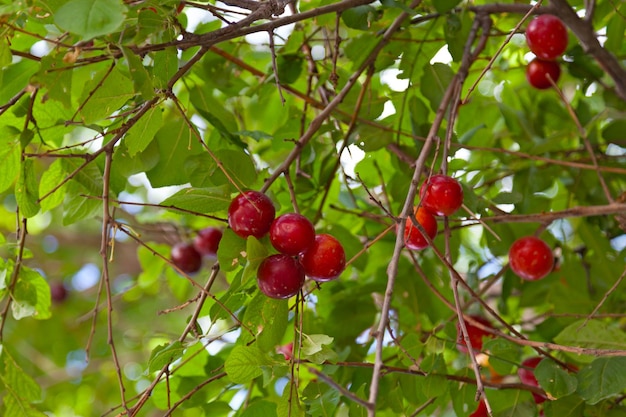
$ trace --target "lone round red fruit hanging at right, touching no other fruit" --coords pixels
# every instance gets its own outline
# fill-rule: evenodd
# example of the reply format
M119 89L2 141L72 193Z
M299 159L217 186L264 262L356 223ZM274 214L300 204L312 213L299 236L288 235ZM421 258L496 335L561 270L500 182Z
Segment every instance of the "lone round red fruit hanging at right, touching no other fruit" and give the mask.
M534 236L526 236L511 245L509 265L519 277L536 281L552 271L554 255L546 242Z

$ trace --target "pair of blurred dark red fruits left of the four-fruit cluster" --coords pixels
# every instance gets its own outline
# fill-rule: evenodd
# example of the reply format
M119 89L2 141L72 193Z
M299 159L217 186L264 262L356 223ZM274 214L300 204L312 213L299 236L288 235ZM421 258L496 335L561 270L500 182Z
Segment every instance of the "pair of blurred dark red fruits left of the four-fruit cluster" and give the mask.
M202 268L203 258L214 259L222 239L222 231L216 227L199 230L193 242L179 242L172 247L170 259L178 269L194 274Z

